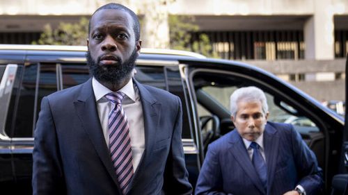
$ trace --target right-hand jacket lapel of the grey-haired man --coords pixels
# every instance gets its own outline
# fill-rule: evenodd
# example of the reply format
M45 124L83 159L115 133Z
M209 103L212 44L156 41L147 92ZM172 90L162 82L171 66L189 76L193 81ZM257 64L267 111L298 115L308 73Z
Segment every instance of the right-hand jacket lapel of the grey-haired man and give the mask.
M264 155L267 162L267 189L271 189L276 170L276 160L278 158L279 138L277 130L272 126L266 125L264 129Z

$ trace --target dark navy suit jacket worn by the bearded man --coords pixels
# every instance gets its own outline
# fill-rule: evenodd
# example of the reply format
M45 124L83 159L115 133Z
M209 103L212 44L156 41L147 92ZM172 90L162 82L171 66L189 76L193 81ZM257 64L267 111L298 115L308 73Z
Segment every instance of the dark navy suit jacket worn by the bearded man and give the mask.
M135 83L143 105L145 150L128 194L191 194L180 99ZM33 194L122 194L91 79L42 99L33 150Z

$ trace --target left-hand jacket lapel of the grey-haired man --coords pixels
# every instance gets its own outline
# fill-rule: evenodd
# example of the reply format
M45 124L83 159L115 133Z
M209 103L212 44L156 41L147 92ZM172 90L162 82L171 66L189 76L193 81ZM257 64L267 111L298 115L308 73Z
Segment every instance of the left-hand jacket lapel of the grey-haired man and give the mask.
M246 172L246 175L252 180L253 184L260 190L260 192L262 192L262 194L266 194L264 187L262 187L261 180L258 178L258 173L248 155L248 151L246 151L242 137L240 137L237 129L232 131L229 151L235 156L235 160L237 160L239 166Z

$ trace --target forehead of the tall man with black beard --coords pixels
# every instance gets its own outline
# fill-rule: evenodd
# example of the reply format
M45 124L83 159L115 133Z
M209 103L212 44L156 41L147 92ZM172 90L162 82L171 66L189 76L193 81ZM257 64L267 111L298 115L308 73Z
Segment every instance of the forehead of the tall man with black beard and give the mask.
M95 12L90 19L90 30L104 26L132 28L133 19L125 10L104 9Z

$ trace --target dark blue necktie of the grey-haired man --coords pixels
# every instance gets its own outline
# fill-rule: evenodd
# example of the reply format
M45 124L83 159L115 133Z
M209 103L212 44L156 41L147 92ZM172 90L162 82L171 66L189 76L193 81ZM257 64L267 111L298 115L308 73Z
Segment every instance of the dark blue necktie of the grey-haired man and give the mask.
M250 147L253 149L253 165L258 172L264 189L267 189L267 166L260 153L260 146L256 142L251 142Z

